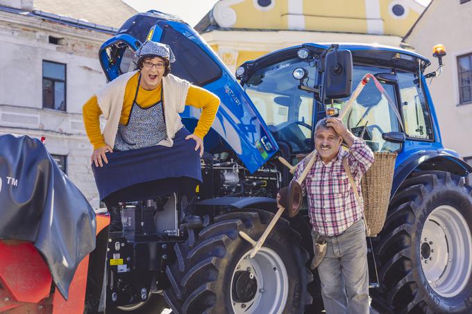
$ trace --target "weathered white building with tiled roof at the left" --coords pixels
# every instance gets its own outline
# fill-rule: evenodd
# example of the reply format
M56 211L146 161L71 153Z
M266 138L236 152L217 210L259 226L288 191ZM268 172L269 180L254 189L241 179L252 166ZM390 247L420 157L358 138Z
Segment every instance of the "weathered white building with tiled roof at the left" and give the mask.
M93 207L82 105L106 84L99 47L135 13L121 0L0 0L0 134L46 137Z

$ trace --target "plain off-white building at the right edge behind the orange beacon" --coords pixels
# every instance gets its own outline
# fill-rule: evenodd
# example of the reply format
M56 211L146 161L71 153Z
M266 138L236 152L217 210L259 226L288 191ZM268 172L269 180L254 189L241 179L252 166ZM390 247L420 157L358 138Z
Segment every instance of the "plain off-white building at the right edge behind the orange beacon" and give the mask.
M403 39L416 52L429 57L434 71L437 60L432 47L444 44L444 72L430 84L441 137L446 148L472 164L472 1L432 0ZM471 182L472 177L469 177Z

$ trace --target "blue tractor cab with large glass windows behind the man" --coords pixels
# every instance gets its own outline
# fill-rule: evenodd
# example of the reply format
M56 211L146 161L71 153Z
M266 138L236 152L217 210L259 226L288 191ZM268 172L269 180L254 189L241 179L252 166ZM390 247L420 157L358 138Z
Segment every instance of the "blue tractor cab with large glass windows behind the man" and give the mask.
M365 84L343 117L353 134L362 136L374 152L398 152L402 143L405 150L416 143L441 147L423 76L429 60L387 46L332 46L303 44L269 53L237 69L244 90L276 141L289 146L292 157L313 150L316 122L326 116L326 110L342 112L367 74L376 82L372 79ZM328 64L333 58L326 51L332 51L339 64L344 57L336 54L352 56L341 80ZM332 94L333 85L342 92Z

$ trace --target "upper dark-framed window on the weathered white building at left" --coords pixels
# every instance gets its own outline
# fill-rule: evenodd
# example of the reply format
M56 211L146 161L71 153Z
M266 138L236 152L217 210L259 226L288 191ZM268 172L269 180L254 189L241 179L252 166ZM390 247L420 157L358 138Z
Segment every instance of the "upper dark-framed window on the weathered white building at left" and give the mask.
M42 107L66 110L66 64L42 61Z

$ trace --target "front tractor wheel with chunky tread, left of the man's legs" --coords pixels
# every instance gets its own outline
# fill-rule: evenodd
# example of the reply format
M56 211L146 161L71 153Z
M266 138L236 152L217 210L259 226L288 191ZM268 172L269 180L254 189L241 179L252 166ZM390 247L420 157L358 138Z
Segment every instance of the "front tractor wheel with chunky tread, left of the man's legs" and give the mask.
M280 218L264 246L248 257L273 213L248 210L224 213L199 234L176 244L177 261L167 268L171 288L165 291L175 313L303 313L312 299L312 274L305 264L301 238Z

